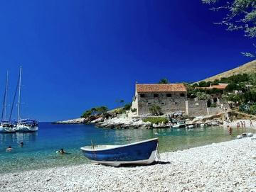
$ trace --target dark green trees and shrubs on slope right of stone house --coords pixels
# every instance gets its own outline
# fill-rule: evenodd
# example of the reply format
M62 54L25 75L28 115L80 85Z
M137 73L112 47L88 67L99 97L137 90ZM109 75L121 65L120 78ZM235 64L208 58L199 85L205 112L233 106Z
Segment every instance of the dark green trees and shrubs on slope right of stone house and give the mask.
M225 90L200 89L210 84L227 83ZM214 81L201 81L201 84L186 84L188 98L197 97L199 100L208 100L212 94L221 95L230 101L232 107L243 113L256 114L256 73L236 74L230 77L215 79Z

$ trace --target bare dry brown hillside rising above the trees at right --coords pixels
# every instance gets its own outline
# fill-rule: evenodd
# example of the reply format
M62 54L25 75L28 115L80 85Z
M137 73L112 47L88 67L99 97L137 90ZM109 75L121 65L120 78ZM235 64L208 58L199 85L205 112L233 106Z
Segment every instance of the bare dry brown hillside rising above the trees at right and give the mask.
M203 79L202 81L214 81L215 79L220 79L221 77L230 77L233 74L243 74L243 73L252 73L256 72L256 60L253 60L251 62L247 62L246 64L241 65L240 67L236 67L234 69L231 69L227 72L223 72L220 74L217 74L213 77L209 77L207 79Z

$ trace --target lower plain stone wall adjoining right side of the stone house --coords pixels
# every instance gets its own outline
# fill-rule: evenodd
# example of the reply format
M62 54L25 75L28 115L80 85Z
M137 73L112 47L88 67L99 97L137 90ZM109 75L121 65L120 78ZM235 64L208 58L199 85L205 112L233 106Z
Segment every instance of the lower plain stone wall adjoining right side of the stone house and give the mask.
M207 101L186 101L186 114L191 117L207 115Z

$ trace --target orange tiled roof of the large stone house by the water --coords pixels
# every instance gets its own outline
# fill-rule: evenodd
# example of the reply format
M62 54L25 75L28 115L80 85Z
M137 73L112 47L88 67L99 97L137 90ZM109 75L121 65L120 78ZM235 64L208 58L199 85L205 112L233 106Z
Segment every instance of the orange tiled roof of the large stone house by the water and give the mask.
M186 92L184 84L136 84L138 93L142 92Z

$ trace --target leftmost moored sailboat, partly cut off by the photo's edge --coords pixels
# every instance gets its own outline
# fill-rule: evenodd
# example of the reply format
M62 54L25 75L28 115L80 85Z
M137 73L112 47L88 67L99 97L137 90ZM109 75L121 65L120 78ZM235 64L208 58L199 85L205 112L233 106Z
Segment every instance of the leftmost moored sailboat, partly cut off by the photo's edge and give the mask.
M8 79L9 78L9 72L7 71L6 74L6 87L4 91L4 103L2 108L2 114L1 114L1 123L0 123L0 132L4 133L11 133L15 132L16 123L14 123L11 120L6 120L6 108L7 108L7 91L8 91Z

